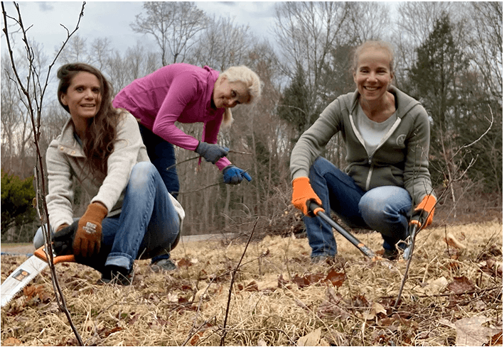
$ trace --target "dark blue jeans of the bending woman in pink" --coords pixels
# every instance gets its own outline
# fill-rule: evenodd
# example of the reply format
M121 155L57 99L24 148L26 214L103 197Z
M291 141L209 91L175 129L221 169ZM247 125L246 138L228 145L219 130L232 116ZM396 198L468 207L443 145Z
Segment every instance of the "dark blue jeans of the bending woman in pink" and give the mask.
M161 175L168 192L176 199L178 197L178 191L180 190L180 184L178 183L178 175L175 166L175 146L165 141L163 138L160 138L140 123L139 128L141 139L144 141L144 145L147 148L147 155L149 155L151 163L158 169L159 175ZM168 167L170 167L170 170L166 170ZM152 258L152 263L168 258L170 258L170 253L159 255L158 257Z

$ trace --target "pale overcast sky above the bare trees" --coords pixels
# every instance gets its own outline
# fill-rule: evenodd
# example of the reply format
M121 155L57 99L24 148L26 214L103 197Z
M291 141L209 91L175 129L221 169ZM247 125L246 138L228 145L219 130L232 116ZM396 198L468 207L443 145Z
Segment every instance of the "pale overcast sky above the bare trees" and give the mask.
M60 48L66 38L63 24L69 31L73 31L82 8L79 1L20 1L18 2L25 27L33 25L28 31L28 38L43 44L45 52L53 57L55 48ZM16 17L17 13L11 1L4 1L9 16ZM95 38L109 38L114 49L123 51L142 43L151 43L151 35L134 33L130 26L135 16L143 11L142 1L88 1L85 5L84 17L81 18L79 34L91 43ZM218 18L230 17L235 25L248 25L250 31L258 38L272 40L271 33L274 24L274 2L267 1L196 1L196 5L208 15ZM8 21L9 23L9 21ZM1 18L4 28L4 18ZM1 52L5 52L4 33L1 34Z

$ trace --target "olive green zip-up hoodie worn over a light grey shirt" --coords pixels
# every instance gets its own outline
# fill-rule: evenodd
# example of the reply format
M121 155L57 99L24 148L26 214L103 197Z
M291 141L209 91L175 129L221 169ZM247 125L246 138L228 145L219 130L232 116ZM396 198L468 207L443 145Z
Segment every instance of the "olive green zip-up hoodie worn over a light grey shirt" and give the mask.
M345 142L347 167L343 169L364 191L393 185L407 189L417 205L434 194L429 174L430 128L427 111L419 101L390 87L397 121L374 152L367 153L355 126L358 91L341 95L323 110L301 135L291 153L291 178L308 177L313 161L339 131Z

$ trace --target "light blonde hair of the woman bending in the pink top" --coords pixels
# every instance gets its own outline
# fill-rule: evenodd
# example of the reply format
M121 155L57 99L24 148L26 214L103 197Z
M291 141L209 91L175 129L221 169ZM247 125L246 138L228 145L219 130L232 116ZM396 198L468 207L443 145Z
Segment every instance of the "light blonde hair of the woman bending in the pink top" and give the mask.
M259 76L249 67L245 65L232 66L227 68L225 72L222 72L222 77L226 77L229 82L242 82L245 84L245 89L249 94L249 101L247 104L252 104L252 102L257 101L261 97L261 80ZM231 109L226 109L224 116L222 118L223 126L231 126L232 123L232 112Z

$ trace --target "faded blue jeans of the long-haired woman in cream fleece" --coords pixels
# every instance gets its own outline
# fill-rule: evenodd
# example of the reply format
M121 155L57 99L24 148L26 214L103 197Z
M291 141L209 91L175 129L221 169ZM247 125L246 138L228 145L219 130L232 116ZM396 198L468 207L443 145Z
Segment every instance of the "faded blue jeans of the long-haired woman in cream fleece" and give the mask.
M100 255L82 263L100 272L108 265L131 271L135 259L168 253L179 226L180 219L158 170L151 163L137 163L125 189L121 214L102 221ZM42 244L42 228L38 228L33 246Z

